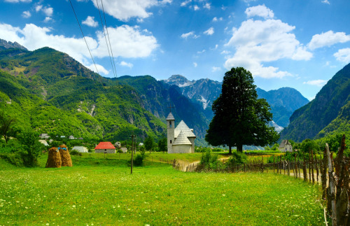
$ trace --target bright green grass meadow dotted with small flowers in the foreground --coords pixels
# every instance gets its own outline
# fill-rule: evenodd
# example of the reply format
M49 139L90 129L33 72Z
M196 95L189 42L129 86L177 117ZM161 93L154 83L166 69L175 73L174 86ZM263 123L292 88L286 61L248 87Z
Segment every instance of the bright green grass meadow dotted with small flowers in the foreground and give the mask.
M0 225L323 224L320 188L293 177L184 173L159 162L130 175L125 160L72 159L60 169L1 160Z

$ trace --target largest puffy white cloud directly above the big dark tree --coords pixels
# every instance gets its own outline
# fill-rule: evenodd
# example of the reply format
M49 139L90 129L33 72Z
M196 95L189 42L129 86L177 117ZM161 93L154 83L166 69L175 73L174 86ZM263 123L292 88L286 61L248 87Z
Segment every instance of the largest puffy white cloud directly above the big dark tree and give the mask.
M230 41L225 45L236 50L235 55L225 62L225 68L244 66L253 76L262 78L283 78L292 76L274 66L264 66L262 62L279 59L309 60L311 52L290 33L295 27L281 20L246 20L241 27L233 29ZM225 51L225 50L224 50ZM222 52L227 54L228 52Z

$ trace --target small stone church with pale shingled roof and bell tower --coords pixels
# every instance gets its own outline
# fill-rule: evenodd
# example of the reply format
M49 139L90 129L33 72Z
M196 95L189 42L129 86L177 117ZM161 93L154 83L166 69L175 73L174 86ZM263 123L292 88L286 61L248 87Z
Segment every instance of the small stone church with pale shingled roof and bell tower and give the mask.
M195 153L195 139L193 129L183 120L175 128L175 118L172 112L167 117L168 153Z

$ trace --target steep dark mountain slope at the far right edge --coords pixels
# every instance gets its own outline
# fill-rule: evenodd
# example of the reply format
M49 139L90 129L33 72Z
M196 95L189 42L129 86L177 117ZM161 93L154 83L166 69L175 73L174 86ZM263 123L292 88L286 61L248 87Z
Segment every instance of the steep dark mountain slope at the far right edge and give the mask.
M297 109L290 117L290 125L281 132L282 139L302 141L326 136L327 131L337 128L332 121L347 117L347 104L350 101L350 64L338 71L318 92L309 104ZM330 129L332 128L332 129ZM324 130L323 130L324 129ZM321 132L323 130L323 132ZM321 133L320 133L321 132Z

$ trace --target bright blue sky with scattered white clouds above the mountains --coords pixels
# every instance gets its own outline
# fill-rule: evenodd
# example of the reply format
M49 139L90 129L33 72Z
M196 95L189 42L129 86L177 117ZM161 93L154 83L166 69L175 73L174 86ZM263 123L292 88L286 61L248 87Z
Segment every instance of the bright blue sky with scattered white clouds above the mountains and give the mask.
M312 99L350 62L347 0L71 3L106 77L115 74L97 3L104 6L117 76L222 81L232 66L244 66L263 90L294 87ZM1 0L0 38L29 50L55 48L96 71L69 1Z

